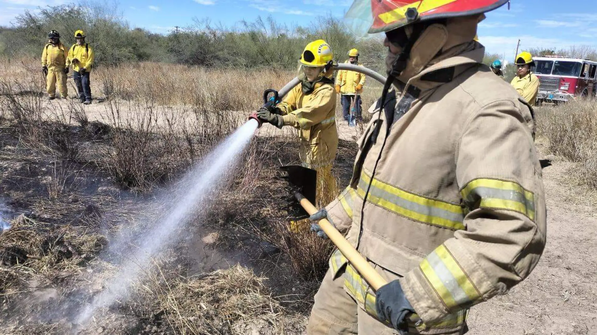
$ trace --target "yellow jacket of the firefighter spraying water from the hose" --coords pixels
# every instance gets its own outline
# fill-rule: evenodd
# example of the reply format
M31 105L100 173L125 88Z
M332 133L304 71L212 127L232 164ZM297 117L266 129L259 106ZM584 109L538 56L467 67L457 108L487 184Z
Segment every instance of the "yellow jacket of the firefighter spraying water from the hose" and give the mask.
M336 158L336 91L329 83L316 83L311 94L297 85L284 97L278 108L283 126L293 126L300 138L299 156L304 166L318 169Z

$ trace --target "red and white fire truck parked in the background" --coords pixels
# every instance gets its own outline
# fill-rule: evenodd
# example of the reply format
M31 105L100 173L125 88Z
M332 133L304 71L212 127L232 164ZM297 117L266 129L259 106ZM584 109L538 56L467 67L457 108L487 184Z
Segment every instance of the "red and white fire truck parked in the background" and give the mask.
M534 57L539 78L537 104L562 103L577 97L595 97L597 62L581 58Z

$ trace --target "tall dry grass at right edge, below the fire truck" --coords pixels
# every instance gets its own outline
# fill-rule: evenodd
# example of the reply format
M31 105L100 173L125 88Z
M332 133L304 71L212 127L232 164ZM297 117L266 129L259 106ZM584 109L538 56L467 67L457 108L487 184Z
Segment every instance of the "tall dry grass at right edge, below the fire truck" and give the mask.
M597 188L597 101L578 99L539 108L537 135L549 140L549 150L577 163L571 173Z

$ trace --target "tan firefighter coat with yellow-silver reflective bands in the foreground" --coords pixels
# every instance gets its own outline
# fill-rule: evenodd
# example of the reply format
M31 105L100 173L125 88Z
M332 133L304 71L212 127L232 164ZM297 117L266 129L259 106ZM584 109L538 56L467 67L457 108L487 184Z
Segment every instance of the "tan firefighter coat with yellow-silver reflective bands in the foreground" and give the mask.
M483 55L441 60L408 80L396 110L372 107L349 188L326 207L380 273L404 276L424 327L437 327L421 334L461 330L466 309L526 278L545 244L531 110Z

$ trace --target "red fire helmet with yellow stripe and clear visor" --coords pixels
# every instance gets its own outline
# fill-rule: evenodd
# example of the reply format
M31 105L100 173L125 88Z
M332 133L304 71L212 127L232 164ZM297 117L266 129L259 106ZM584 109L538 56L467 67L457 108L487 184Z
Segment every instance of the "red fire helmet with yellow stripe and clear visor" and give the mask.
M476 15L494 10L509 0L355 0L346 22L355 32L387 32L414 21ZM409 15L407 11L410 10ZM412 14L415 13L416 16ZM358 33L358 35L361 35Z

